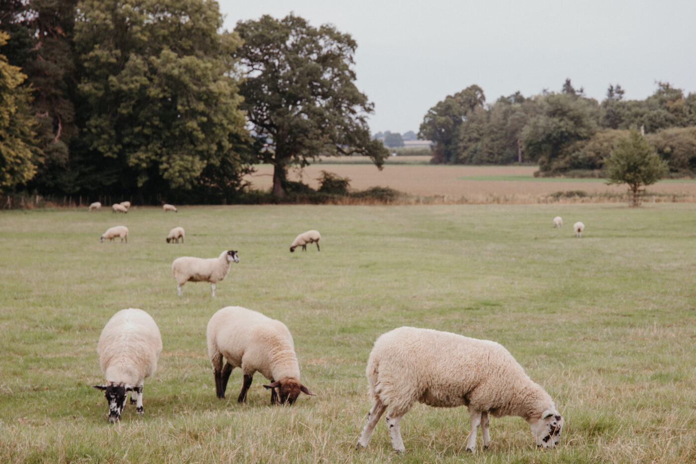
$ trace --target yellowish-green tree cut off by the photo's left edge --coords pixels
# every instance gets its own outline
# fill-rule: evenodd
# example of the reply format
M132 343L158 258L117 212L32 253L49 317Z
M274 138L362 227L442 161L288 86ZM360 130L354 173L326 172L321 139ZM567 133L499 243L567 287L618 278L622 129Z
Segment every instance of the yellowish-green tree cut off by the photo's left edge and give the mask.
M0 47L10 37L0 31ZM31 179L36 172L31 94L20 86L26 75L0 54L0 192Z

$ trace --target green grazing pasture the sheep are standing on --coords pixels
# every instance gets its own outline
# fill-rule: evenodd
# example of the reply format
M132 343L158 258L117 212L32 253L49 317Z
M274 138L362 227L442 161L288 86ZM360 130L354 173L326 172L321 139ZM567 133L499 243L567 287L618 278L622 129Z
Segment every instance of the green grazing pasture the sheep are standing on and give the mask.
M553 229L555 215L564 219ZM576 239L571 226L582 220ZM100 243L125 224L127 245ZM173 226L184 245L168 245ZM315 228L322 251L290 254ZM696 206L218 206L0 212L0 463L693 463ZM239 250L210 297L176 296L171 261ZM317 396L271 407L257 374L216 399L205 325L230 304L290 328ZM164 351L144 416L106 423L96 346L119 309L157 321ZM379 334L430 327L503 343L565 418L541 451L519 417L491 419L465 453L468 412L415 405L393 454L370 408L365 363Z

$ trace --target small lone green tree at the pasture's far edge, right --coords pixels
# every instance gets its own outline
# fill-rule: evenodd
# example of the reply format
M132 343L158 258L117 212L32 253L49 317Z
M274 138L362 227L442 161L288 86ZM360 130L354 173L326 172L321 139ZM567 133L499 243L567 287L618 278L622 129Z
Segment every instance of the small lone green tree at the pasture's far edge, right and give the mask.
M605 164L609 172L608 184L628 184L630 206L640 206L644 192L641 187L656 183L667 171L667 163L637 130L619 141Z

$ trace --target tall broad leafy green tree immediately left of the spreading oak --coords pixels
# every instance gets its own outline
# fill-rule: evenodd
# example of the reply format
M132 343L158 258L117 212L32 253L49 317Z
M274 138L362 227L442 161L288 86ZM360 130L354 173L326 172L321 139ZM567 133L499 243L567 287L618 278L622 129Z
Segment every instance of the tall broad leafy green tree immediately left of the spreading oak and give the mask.
M223 172L216 183L241 182L245 121L230 77L240 40L221 26L214 1L79 3L83 139L117 161L127 192L166 195Z

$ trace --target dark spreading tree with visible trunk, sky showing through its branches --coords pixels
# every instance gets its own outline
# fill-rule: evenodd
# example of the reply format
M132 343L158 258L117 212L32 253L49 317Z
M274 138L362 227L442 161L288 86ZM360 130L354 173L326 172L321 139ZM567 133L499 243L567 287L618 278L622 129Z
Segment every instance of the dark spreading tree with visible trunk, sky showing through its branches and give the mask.
M288 167L319 155L367 155L381 169L388 151L370 137L373 105L355 85L351 36L292 14L238 22L235 31L244 40L234 54L246 71L243 107L258 161L274 166L275 196L286 194Z

